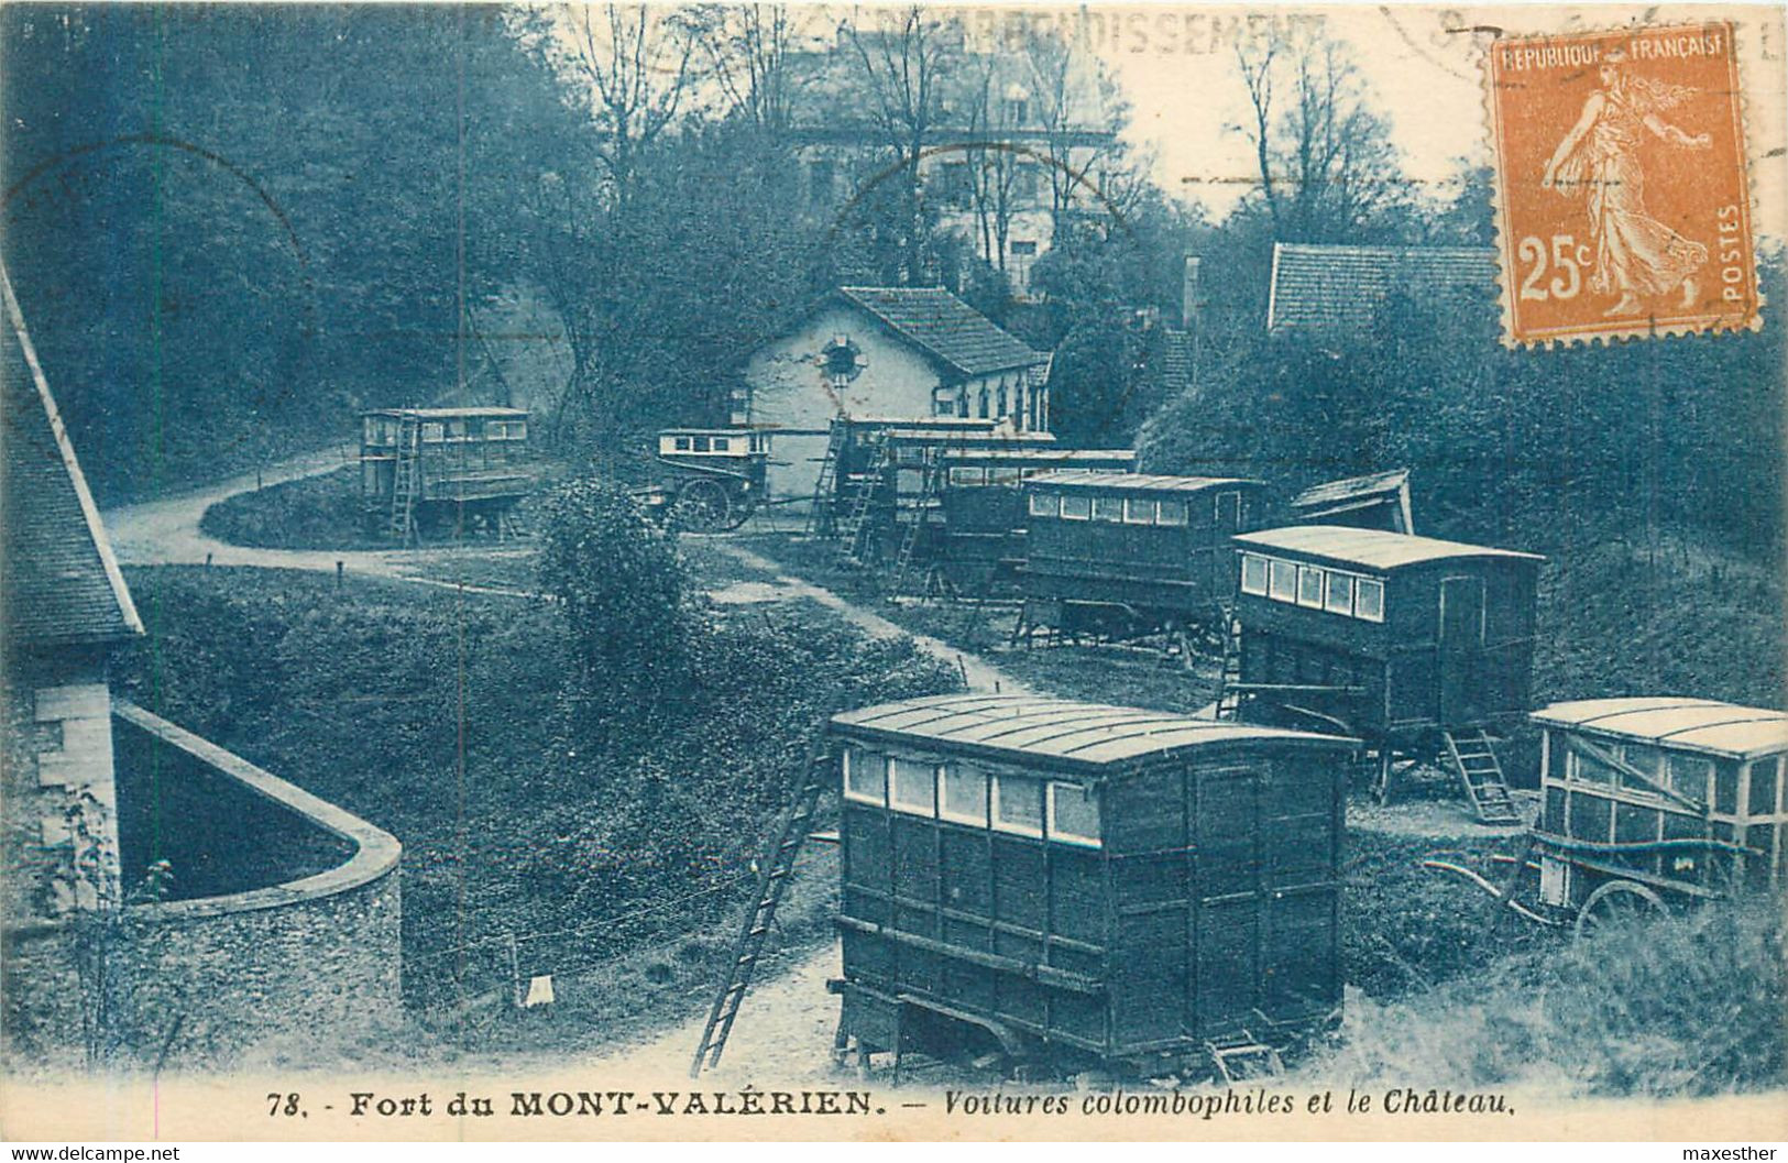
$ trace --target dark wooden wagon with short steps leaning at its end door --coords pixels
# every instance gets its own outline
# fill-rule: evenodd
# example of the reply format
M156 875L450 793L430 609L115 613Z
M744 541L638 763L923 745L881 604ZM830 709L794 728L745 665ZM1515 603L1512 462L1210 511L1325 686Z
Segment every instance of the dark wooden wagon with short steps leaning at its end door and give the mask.
M1545 558L1432 537L1289 526L1236 537L1219 716L1328 725L1457 773L1479 818L1520 823L1495 739L1525 721Z

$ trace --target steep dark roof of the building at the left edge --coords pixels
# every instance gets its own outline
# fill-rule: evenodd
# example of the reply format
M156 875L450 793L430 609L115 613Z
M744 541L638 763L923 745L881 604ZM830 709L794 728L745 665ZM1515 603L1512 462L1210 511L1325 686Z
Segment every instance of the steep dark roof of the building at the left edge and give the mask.
M80 462L55 412L13 283L0 270L0 590L5 635L20 646L111 642L143 632Z

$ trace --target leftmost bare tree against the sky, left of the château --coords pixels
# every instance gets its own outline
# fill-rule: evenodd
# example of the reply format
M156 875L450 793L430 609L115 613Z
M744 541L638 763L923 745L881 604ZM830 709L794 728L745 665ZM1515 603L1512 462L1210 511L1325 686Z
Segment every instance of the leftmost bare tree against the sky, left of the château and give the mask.
M563 9L569 66L590 86L603 163L626 204L640 154L676 120L694 79L697 29L679 9L601 4Z

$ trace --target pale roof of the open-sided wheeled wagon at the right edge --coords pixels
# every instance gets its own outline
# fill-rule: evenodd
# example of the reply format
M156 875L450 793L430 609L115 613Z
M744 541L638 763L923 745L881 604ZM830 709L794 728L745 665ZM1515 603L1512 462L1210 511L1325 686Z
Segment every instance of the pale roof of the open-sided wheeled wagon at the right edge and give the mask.
M1591 698L1532 712L1541 726L1645 739L1733 759L1788 751L1788 712L1706 698Z

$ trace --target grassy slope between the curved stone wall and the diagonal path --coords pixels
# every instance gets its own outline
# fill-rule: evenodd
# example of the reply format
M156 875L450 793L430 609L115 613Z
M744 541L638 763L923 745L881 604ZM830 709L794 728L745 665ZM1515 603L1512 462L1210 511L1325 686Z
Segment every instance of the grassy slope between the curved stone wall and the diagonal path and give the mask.
M824 712L957 682L817 608L717 617L676 721L576 753L551 605L288 571L129 582L150 635L127 696L404 843L418 1000L506 984L508 934L545 972L728 916Z

